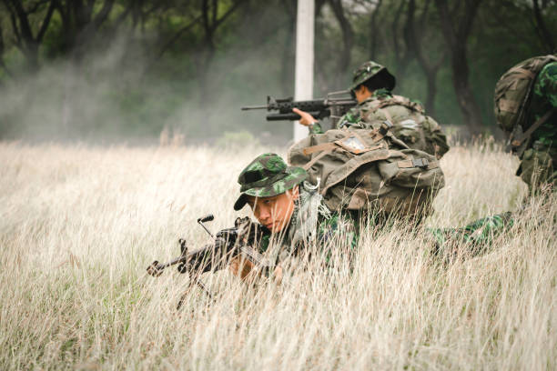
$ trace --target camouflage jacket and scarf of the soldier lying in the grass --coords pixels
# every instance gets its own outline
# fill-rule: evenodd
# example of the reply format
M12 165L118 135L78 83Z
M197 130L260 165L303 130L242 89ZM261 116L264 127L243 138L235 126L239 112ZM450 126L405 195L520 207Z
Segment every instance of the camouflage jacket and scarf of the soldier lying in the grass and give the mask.
M261 226L264 234L258 244L259 252L277 263L312 244L329 249L345 243L354 248L358 242L354 220L331 212L322 200L316 186L303 182L289 226L279 234L271 234Z

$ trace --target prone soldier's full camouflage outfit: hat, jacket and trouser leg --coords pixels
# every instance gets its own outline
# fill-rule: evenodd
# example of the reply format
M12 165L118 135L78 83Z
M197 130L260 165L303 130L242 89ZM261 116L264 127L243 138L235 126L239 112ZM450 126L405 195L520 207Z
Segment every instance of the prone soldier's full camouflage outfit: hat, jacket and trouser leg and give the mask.
M299 199L289 225L279 234L271 234L261 226L263 234L256 247L275 263L299 254L311 244L330 251L336 246L354 249L358 243L354 217L331 212L323 204L317 187L306 182L306 177L304 169L287 166L275 154L259 155L238 176L240 196L235 210L246 205L248 196L278 196L299 185ZM478 254L512 224L510 213L506 213L482 218L463 228L429 228L429 232L438 253L454 246L466 246L471 253Z

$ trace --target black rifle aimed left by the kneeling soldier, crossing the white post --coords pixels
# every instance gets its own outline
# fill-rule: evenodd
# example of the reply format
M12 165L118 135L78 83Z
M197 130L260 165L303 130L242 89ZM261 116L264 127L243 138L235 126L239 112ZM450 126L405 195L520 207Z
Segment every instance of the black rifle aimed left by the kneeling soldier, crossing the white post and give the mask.
M339 96L339 95L350 95ZM299 108L302 111L308 112L309 115L317 119L330 117L333 127L337 124L340 117L353 106L358 105L358 102L352 97L349 90L341 90L339 92L332 92L324 99L313 99L307 101L295 101L291 96L289 98L274 98L270 95L267 96L267 105L250 105L242 107L242 111L252 109L267 109L270 111L279 111L267 115L267 121L282 121L282 120L299 120L301 117L292 112L292 108Z

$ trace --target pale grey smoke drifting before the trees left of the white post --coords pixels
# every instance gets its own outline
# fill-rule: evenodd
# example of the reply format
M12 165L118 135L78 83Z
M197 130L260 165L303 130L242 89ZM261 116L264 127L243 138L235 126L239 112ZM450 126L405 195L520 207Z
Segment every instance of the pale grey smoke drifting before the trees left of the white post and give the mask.
M275 37L284 39L281 24ZM203 50L155 60L136 35L115 35L107 46L46 61L33 75L20 73L0 88L0 139L157 143L161 132L186 142L214 143L227 132L250 132L258 140L286 143L290 122L268 123L265 104L283 95L283 55L269 40L258 48L238 43L218 50L199 79ZM293 65L293 64L292 64ZM287 79L293 81L292 70Z

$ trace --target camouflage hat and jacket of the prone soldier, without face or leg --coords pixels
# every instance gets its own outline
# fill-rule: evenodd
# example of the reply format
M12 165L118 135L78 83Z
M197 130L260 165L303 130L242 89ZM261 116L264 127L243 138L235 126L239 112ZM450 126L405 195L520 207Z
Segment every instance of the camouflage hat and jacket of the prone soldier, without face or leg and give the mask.
M258 250L275 262L315 243L327 249L336 243L346 243L352 248L357 244L354 221L348 215L331 212L323 204L317 187L304 181L307 176L303 168L287 166L275 154L259 155L238 176L240 196L235 210L246 205L248 196L278 196L299 185L299 198L289 225L279 234L271 234L261 226L263 235L257 244Z

